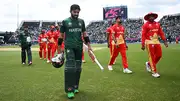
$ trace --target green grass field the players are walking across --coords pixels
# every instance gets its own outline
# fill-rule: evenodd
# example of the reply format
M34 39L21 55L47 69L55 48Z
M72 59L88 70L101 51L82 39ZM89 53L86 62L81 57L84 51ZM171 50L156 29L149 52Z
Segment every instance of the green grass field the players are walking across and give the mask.
M146 72L147 53L140 44L129 44L127 51L133 74L123 74L120 56L114 70L108 71L108 48L95 51L103 72L86 53L80 93L73 101L180 101L180 45L162 48L163 58L157 65L160 78ZM32 66L20 64L18 51L0 51L0 56L0 101L70 101L64 93L64 67L53 68L39 59L37 51Z

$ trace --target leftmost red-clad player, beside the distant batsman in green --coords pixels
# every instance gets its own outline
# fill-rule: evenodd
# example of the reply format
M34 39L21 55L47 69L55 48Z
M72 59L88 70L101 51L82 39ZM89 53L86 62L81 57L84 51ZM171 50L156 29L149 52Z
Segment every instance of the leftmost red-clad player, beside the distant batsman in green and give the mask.
M45 34L45 30L42 30L39 37L39 57L42 59L42 51L44 52L44 59L46 59L46 45L47 45L47 36Z

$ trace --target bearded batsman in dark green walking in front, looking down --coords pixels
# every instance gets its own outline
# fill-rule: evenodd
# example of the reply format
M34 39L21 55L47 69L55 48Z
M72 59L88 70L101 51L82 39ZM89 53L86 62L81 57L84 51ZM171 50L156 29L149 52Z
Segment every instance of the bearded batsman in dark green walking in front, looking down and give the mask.
M80 12L80 6L73 4L70 7L71 17L62 21L60 28L60 37L58 39L58 45L61 46L63 41L65 45L65 92L68 98L74 98L74 94L79 92L79 81L81 76L82 65L82 52L83 52L83 40L88 45L88 50L91 50L90 40L86 33L85 23L83 19L78 18ZM65 36L65 37L64 37ZM62 56L61 48L58 49Z

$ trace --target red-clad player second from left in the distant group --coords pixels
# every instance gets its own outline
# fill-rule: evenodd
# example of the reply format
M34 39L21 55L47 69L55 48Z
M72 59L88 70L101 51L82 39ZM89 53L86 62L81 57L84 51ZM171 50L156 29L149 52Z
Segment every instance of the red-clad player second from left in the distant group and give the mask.
M54 57L56 51L56 37L57 33L55 31L55 27L51 26L50 30L47 32L47 39L48 39L48 60L47 63L50 62L51 58ZM51 55L51 58L50 58Z

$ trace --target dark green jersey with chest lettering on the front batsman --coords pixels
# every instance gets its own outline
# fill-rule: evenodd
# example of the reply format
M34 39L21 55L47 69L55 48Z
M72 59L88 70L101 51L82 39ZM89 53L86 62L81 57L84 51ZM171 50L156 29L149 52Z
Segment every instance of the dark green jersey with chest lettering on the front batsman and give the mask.
M65 34L66 48L81 48L83 46L82 32L86 31L84 20L69 17L62 21L60 31Z

